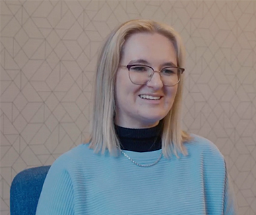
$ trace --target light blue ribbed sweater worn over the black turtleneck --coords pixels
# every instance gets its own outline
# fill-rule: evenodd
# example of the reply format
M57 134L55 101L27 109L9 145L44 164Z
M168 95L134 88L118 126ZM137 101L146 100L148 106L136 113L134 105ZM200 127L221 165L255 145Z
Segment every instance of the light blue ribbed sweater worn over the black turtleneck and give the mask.
M81 144L53 163L36 215L236 214L219 150L199 136L185 146L187 157L139 167L123 155L98 155ZM150 164L160 150L125 153Z

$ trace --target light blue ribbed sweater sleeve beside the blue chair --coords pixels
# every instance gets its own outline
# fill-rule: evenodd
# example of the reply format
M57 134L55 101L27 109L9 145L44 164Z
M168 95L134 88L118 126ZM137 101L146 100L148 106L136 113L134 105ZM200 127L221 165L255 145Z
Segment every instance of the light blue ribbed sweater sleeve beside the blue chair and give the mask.
M74 214L73 185L69 172L61 160L57 159L49 169L38 201L36 215Z

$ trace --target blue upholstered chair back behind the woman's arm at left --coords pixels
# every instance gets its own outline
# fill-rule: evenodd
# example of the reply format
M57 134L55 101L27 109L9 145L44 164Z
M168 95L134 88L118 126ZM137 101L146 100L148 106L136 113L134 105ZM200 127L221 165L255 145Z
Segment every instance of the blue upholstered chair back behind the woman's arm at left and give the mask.
M16 175L11 183L11 215L34 215L44 179L50 166L26 169Z

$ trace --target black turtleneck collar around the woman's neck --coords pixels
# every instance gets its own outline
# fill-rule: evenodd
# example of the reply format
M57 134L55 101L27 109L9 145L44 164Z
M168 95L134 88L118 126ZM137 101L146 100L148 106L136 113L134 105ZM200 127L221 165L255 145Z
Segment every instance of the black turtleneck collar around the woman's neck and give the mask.
M159 150L161 144L162 123L153 128L123 128L115 126L121 149L135 152Z

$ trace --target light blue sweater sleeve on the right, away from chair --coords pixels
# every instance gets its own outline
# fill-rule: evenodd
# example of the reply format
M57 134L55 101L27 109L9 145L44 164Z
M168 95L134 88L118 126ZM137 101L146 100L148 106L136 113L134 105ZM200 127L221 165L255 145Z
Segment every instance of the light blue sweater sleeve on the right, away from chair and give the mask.
M212 142L203 148L203 161L207 214L238 214L225 159Z

